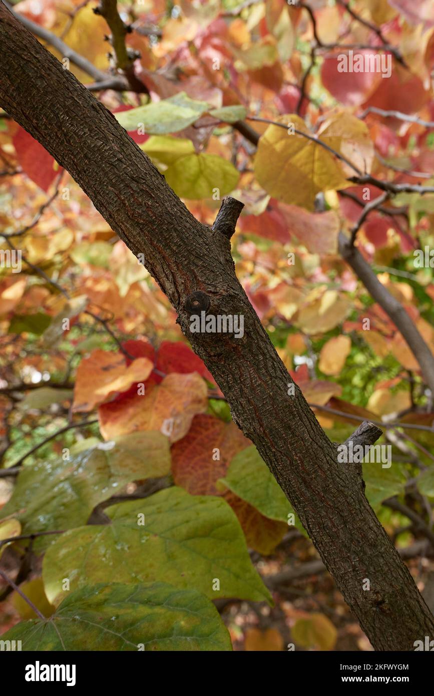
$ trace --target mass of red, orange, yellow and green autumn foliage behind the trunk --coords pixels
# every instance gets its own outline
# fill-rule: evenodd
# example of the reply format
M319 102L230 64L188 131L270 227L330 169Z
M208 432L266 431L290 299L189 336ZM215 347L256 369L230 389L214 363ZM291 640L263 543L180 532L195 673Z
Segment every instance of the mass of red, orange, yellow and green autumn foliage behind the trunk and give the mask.
M94 1L14 6L130 80L101 86L41 39L197 219L243 202L236 274L330 440L383 427L391 466L365 461L366 496L428 592L434 374L341 237L434 354L434 15L429 0L350 8L120 2L122 58ZM348 70L350 50L389 76ZM59 649L12 577L69 650L369 649L140 258L5 111L0 159L0 632Z

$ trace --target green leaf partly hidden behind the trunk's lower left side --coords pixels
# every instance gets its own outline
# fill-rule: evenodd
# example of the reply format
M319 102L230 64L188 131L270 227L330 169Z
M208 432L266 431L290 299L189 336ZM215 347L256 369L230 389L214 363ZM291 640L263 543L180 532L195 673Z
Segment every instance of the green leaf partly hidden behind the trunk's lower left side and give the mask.
M288 515L294 514L296 527L305 533L291 503L255 445L236 454L220 484L269 519L287 522Z

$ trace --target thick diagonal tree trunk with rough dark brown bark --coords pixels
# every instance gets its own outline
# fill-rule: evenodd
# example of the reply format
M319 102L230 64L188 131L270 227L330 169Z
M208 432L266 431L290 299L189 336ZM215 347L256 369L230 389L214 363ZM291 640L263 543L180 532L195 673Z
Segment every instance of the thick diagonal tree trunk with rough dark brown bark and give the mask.
M1 2L0 46L0 105L72 174L131 251L144 255L373 647L412 650L415 640L433 637L434 618L360 477L337 463L299 388L288 395L291 378L236 278L230 240L188 212L111 113ZM243 338L190 333L185 306L197 292L207 296L209 313L243 315Z

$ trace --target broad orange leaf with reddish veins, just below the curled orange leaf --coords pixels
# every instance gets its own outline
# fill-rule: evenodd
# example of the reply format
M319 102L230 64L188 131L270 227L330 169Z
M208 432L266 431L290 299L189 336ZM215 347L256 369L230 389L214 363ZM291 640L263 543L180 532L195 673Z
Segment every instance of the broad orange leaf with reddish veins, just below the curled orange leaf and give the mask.
M145 394L127 393L99 406L99 429L105 440L137 430L159 430L176 442L187 434L193 416L208 408L208 391L197 372L173 372Z

